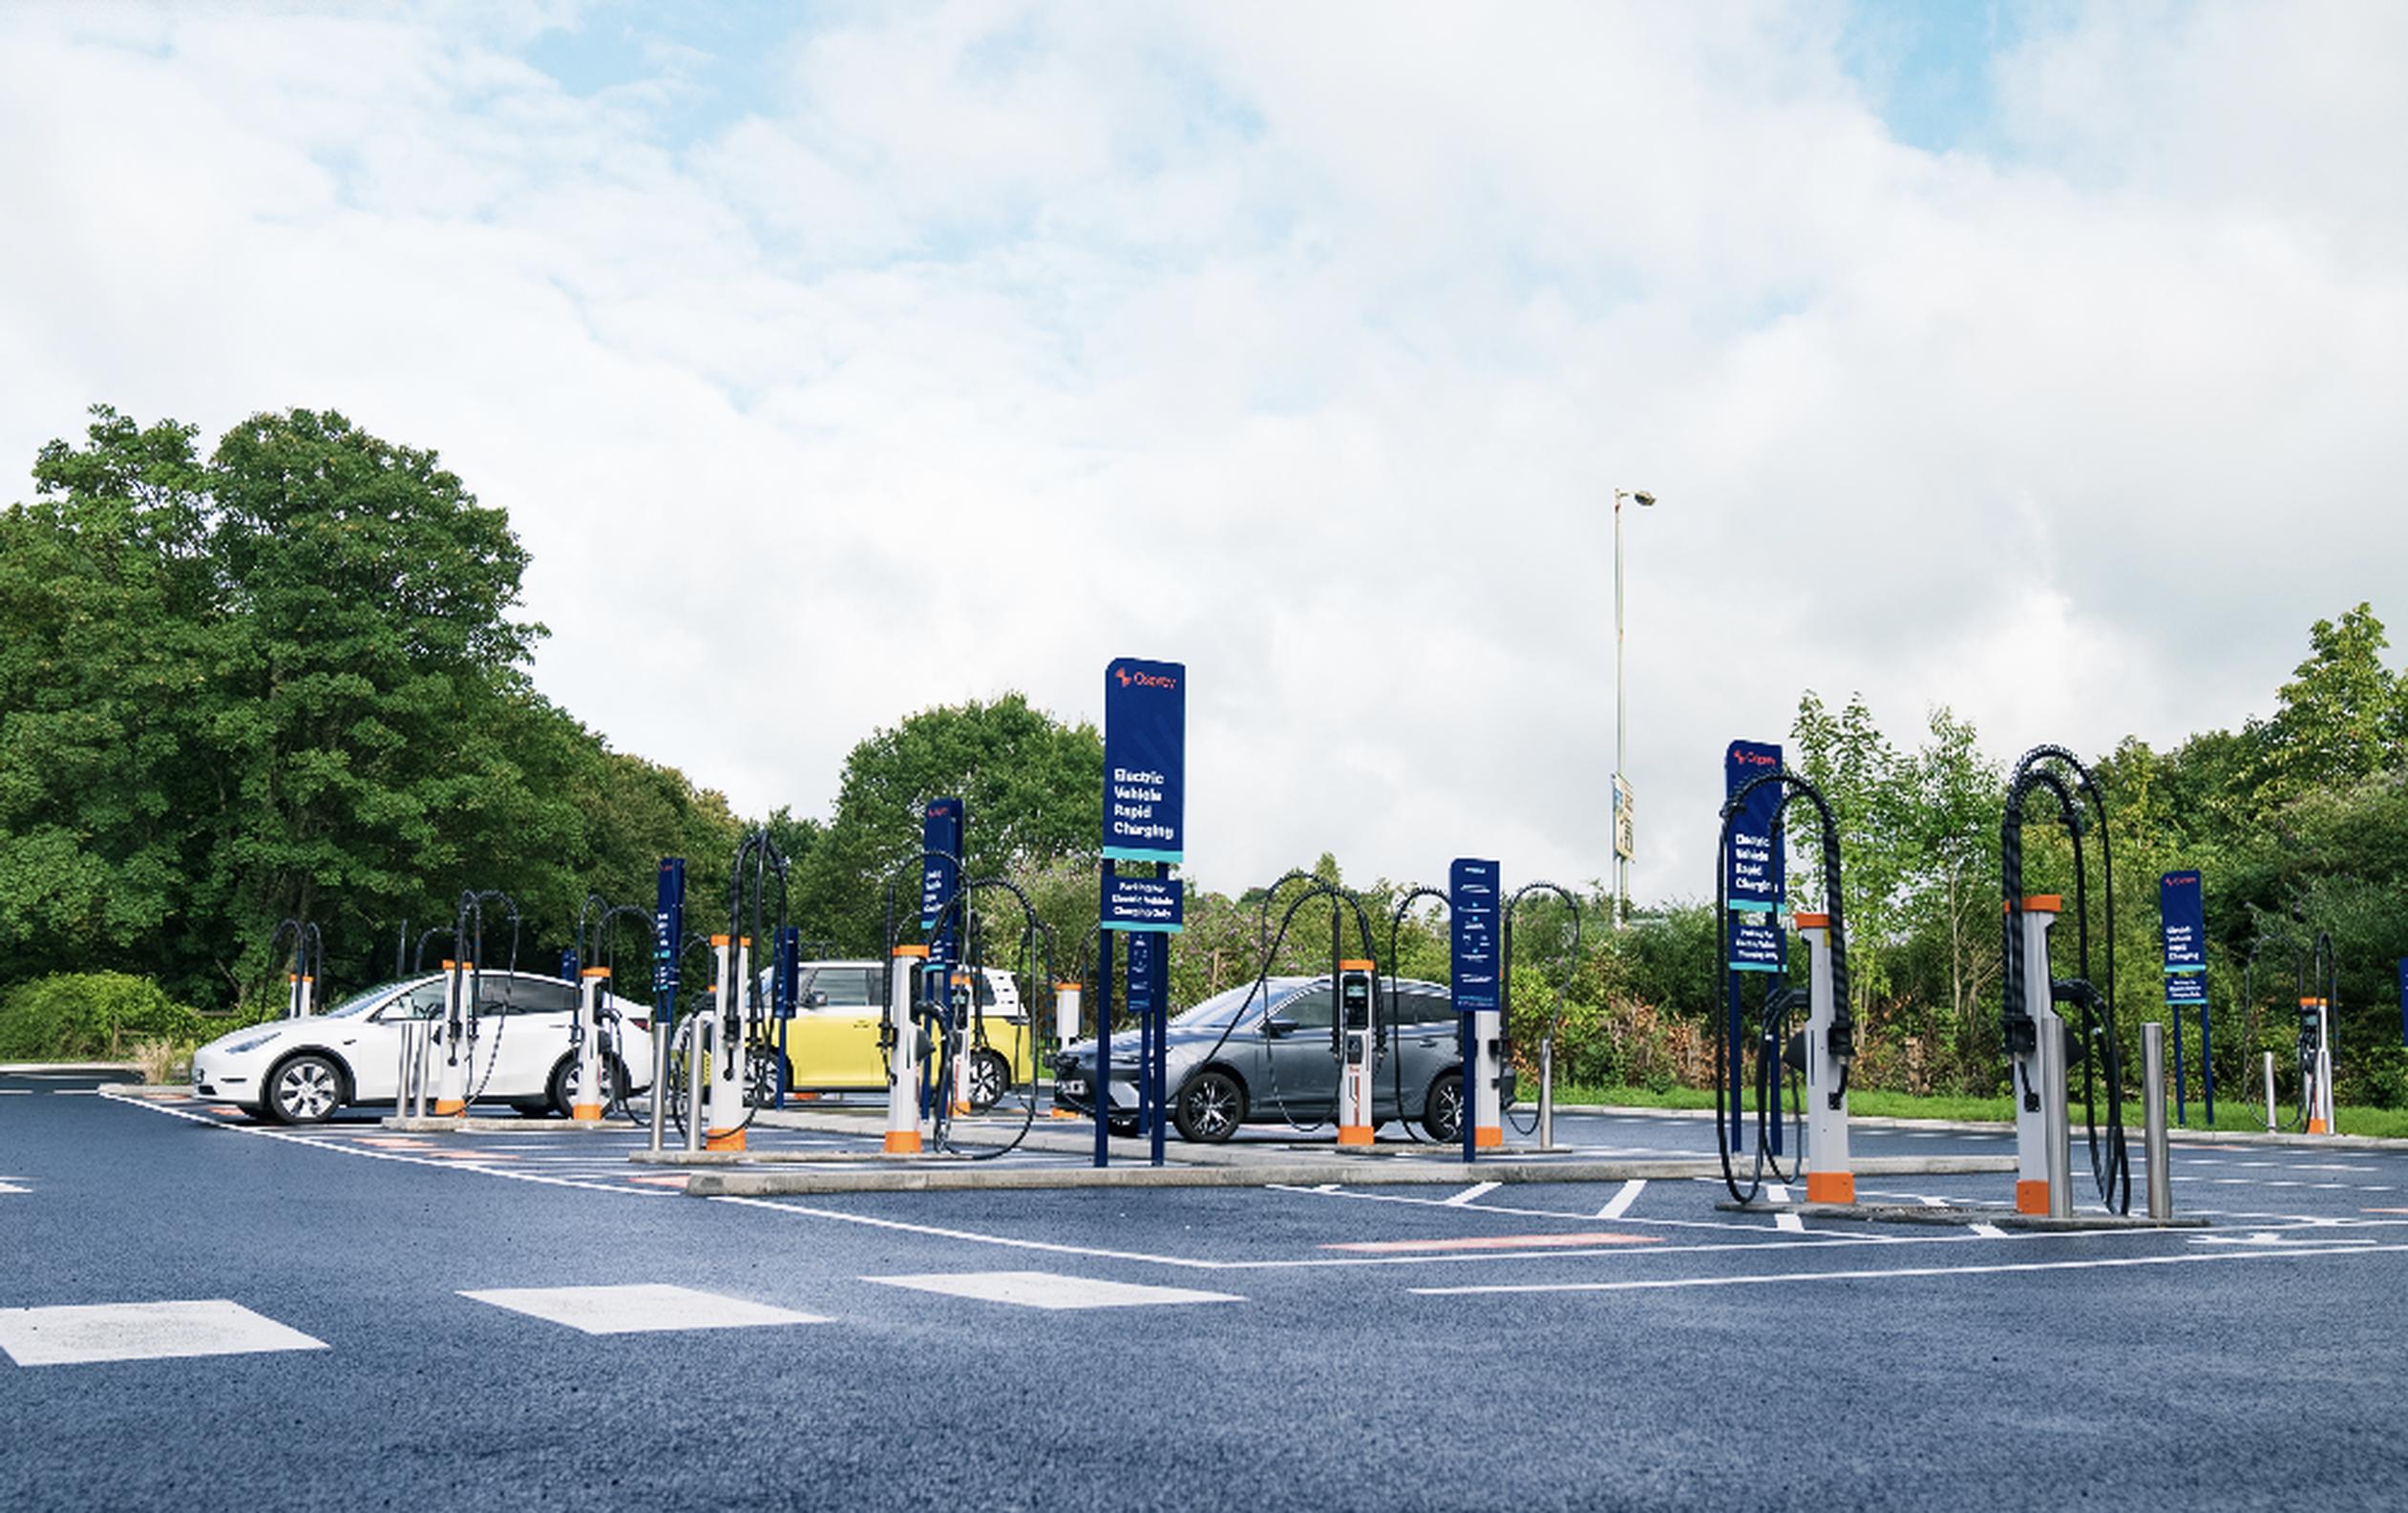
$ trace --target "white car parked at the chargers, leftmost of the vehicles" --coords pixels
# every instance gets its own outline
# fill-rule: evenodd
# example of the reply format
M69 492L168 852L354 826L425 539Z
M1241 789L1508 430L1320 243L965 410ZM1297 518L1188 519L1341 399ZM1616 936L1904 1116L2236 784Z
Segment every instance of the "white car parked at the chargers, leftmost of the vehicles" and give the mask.
M530 1115L566 1115L578 1089L578 1062L568 1050L578 1007L576 983L525 971L486 971L477 981L477 1005L470 1094L510 1103ZM641 1041L650 1036L643 1005L621 1005L604 993L604 1036L614 1014L628 1043L648 1043ZM368 988L325 1014L272 1019L217 1036L193 1053L193 1089L205 1099L226 1099L250 1118L282 1125L313 1125L356 1103L395 1103L402 1024L441 1017L443 973ZM429 1079L438 1075L441 1060L443 1048L436 1046ZM636 1055L636 1060L648 1075L648 1058ZM612 1062L604 1077L626 1084L628 1067L624 1060Z

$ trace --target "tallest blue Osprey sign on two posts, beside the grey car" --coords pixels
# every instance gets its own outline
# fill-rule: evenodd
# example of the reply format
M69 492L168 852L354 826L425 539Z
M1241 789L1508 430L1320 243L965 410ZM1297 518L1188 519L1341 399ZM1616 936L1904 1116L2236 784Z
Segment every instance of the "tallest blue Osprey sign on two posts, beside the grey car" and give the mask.
M1170 867L1187 858L1187 667L1112 658L1103 667L1103 896L1096 947L1096 1166L1112 1149L1112 935L1129 942L1129 1007L1139 1009L1137 1123L1163 1164L1170 942L1185 923L1185 889ZM1127 867L1127 870L1125 870Z

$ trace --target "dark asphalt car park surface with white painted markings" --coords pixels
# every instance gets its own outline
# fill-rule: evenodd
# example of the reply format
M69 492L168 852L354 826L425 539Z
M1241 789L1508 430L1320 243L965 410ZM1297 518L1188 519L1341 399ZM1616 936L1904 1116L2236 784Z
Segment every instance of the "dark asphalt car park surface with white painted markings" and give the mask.
M2408 1503L2403 1152L2186 1140L2208 1229L2006 1234L1702 1181L703 1200L636 1142L0 1077L0 1506Z

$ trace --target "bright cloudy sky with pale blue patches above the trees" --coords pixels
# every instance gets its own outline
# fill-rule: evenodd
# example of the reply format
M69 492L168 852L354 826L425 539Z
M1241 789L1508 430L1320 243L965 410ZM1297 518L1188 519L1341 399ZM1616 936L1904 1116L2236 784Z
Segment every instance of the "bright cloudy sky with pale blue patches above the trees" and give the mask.
M0 499L433 446L746 812L1185 660L1223 889L1606 875L1616 487L1642 899L1801 689L2105 749L2408 629L2408 7L660 10L0 5Z

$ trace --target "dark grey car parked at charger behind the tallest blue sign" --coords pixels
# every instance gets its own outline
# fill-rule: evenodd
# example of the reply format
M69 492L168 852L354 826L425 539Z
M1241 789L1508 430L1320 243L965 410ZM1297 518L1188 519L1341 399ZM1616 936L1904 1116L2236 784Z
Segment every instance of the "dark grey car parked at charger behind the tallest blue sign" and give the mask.
M1264 1012L1269 1007L1269 1012ZM1416 1120L1430 1140L1462 1140L1464 1062L1454 997L1440 983L1380 981L1387 1050L1373 1123ZM1165 1087L1170 1123L1187 1140L1221 1142L1247 1123L1312 1125L1336 1113L1339 1062L1329 1048L1329 978L1240 983L1170 1017ZM1112 1036L1112 1123L1137 1120L1137 1031ZM1096 1041L1055 1058L1055 1101L1093 1113Z

